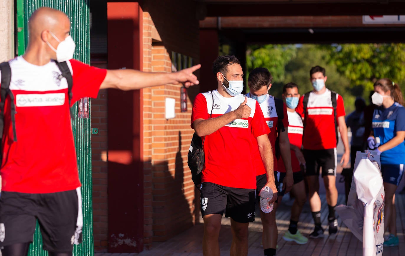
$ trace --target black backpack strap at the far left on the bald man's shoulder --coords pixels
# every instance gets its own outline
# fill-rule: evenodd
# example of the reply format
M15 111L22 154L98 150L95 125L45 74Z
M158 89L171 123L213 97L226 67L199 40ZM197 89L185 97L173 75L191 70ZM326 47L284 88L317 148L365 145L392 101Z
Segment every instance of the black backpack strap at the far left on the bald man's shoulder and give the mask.
M0 63L1 71L1 88L0 88L0 138L3 138L4 132L4 103L6 101L7 95L10 97L10 111L11 111L11 122L13 126L13 137L14 141L17 141L17 132L15 131L15 104L14 95L10 90L11 82L11 68L8 62Z

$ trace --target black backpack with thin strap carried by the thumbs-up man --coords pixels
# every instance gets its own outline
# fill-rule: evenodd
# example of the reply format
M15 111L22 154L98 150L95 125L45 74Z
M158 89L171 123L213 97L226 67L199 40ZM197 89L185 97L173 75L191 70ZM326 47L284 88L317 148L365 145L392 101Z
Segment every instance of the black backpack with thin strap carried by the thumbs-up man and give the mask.
M211 107L211 114L209 115L209 118L212 116L212 111L214 109L214 95L213 92L211 91L211 96L212 96L212 107ZM187 164L188 168L190 168L191 171L191 180L194 182L194 185L198 187L198 185L201 184L201 178L203 176L203 167L205 164L205 154L204 154L204 140L201 141L201 137L198 136L195 132L193 134L193 138L191 139L190 143L190 149L188 150L188 155L187 155Z

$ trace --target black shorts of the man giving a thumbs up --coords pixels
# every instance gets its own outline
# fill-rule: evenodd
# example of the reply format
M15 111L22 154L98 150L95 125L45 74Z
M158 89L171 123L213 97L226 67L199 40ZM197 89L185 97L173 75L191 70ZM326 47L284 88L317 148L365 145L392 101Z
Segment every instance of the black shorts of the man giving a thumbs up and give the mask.
M201 215L224 214L234 221L254 221L255 190L224 187L214 183L201 184Z

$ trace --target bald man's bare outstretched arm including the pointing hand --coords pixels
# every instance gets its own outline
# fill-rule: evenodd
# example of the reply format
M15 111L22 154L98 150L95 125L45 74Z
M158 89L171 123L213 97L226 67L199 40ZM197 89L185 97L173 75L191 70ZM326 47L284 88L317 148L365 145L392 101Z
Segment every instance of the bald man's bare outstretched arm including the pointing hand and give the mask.
M163 84L184 84L185 87L190 87L200 83L193 74L200 67L201 65L198 64L173 73L149 73L134 69L109 69L104 81L100 85L100 89L136 90Z

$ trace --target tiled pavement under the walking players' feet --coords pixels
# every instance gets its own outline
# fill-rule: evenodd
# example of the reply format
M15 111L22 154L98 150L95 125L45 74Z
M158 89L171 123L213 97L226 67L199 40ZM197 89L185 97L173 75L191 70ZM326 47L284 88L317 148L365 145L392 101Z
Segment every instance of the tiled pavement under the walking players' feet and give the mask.
M279 231L277 255L293 255L293 256L361 256L362 243L352 235L350 230L339 220L339 231L334 236L328 236L327 231L322 239L310 239L305 245L298 245L294 242L287 242L282 239L283 233L288 229L290 220L290 206L292 200L287 196L283 199L283 203L277 210L277 227ZM322 199L322 223L326 228L326 218L328 209L326 206L325 195L321 195ZM338 205L344 203L344 195L339 194ZM399 247L384 248L384 256L404 256L405 255L405 195L396 195L397 209L397 229L400 245ZM228 256L231 231L229 219L223 218L222 229L220 233L220 249L221 255ZM305 204L303 213L301 214L299 229L304 235L311 233L314 225L311 216L311 211L308 204ZM260 217L256 217L256 221L249 225L249 256L263 255L261 242L262 224ZM111 253L96 253L95 256L202 256L202 235L203 225L197 224L188 231L185 231L176 237L166 241L153 243L151 250L145 250L139 254L111 254Z

